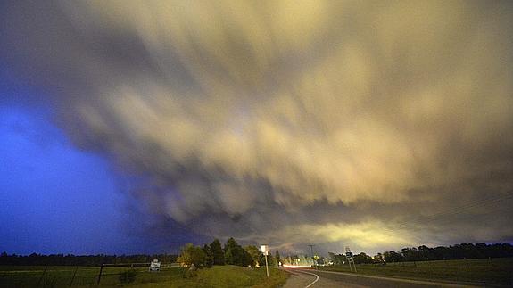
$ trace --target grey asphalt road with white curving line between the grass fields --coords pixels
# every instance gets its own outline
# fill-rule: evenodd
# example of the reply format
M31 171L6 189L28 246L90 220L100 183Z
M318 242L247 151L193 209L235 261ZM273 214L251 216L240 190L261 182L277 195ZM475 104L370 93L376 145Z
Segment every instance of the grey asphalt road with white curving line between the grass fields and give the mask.
M315 269L286 269L292 276L285 288L297 287L473 287L460 284L445 284L430 281L363 276L349 273L319 271Z

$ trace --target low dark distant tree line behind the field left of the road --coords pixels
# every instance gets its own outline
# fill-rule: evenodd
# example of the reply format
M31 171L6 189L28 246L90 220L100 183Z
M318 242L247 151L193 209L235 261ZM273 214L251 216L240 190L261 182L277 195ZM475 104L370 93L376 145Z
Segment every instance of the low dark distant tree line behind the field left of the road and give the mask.
M178 255L153 254L153 255L73 255L51 254L43 255L32 253L30 255L9 255L6 252L0 254L0 265L22 266L100 266L103 264L131 264L149 263L153 259L159 259L163 263L176 262Z

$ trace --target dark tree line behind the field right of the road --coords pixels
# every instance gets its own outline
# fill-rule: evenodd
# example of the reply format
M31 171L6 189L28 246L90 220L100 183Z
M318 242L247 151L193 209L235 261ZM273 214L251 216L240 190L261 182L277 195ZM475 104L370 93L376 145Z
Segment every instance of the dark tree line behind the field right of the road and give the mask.
M513 245L510 243L461 243L435 248L426 245L416 247L402 248L401 251L385 251L377 253L370 257L364 252L354 255L356 264L385 263L385 262L403 262L403 261L429 261L429 260L449 260L449 259L486 259L513 257ZM329 260L335 265L347 263L343 254L329 252Z

